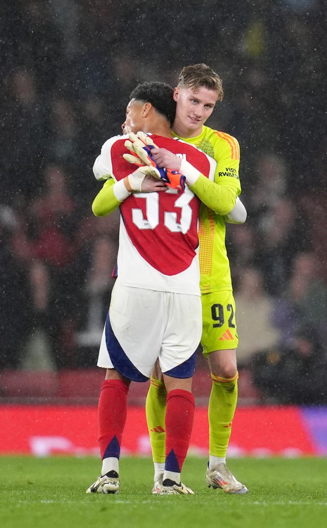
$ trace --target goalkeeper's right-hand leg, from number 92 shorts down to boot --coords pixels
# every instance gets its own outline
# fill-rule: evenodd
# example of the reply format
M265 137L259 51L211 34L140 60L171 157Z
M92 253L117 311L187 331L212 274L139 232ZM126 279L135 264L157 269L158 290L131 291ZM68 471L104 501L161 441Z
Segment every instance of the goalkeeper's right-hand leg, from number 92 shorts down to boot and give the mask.
M218 302L219 301L219 302ZM201 344L208 358L212 386L208 406L209 464L206 482L226 493L246 493L226 467L227 447L237 404L235 301L231 291L202 297Z

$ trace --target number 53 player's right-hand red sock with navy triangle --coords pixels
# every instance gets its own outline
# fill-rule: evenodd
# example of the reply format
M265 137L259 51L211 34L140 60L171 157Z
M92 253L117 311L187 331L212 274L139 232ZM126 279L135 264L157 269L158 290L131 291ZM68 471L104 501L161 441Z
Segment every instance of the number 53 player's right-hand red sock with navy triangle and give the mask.
M174 389L167 395L165 469L180 473L187 455L194 421L194 395Z

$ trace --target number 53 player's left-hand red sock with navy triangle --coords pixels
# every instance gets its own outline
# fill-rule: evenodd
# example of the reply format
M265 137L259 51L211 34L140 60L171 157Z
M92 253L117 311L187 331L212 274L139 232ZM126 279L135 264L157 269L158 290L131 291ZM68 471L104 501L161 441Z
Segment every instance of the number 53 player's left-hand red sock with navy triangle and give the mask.
M122 433L127 416L129 386L121 380L104 380L101 386L98 425L101 459L119 458Z

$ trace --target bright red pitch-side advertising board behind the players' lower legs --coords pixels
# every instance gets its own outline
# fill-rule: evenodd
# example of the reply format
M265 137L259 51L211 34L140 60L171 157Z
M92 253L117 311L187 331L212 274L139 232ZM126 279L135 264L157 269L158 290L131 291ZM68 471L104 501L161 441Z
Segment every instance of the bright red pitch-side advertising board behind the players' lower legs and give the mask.
M326 423L323 417L314 417ZM314 420L313 419L313 420ZM48 456L98 455L97 407L11 406L0 407L0 453ZM316 423L314 424L316 430ZM324 435L323 435L324 436ZM195 410L190 453L208 452L207 408ZM130 407L123 435L122 453L150 455L145 410ZM228 456L304 456L327 454L314 438L310 420L297 407L253 407L236 411Z

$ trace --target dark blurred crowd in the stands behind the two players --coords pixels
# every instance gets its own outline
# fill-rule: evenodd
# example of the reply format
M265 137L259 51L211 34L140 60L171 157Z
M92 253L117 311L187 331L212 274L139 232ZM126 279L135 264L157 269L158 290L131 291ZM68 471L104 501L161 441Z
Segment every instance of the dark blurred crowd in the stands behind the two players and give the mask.
M324 1L3 4L0 371L95 365L119 212L92 215L94 159L136 84L205 62L225 90L208 125L241 146L239 368L265 401L327 403Z

